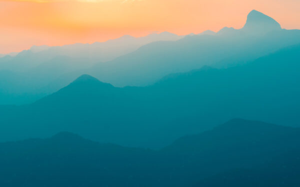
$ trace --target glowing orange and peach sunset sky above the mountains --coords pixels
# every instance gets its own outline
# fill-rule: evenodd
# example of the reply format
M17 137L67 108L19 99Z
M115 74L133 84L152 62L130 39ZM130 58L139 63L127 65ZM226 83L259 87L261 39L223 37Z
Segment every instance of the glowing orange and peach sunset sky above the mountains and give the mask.
M0 53L169 31L241 28L256 9L300 29L300 0L0 0Z

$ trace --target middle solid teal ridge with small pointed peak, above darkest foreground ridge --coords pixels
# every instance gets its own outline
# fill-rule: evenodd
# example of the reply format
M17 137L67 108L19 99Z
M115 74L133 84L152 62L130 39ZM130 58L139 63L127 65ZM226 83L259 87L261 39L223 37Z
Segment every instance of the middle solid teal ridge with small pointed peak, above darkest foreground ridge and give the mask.
M238 67L172 74L147 87L116 88L82 75L33 104L0 107L0 141L68 131L161 148L235 117L298 127L299 59L296 45Z

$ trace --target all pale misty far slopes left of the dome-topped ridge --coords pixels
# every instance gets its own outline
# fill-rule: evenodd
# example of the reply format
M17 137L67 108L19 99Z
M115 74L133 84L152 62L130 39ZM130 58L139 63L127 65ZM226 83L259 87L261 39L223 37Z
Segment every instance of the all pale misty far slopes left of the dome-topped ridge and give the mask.
M0 85L0 104L33 102L66 86L78 77L78 71L84 72L94 63L112 60L147 43L173 41L182 37L169 32L138 38L125 35L92 44L32 46L16 56L6 55L0 58L0 78L9 84L3 82ZM13 74L13 77L7 76L7 73ZM62 75L67 78L60 78Z

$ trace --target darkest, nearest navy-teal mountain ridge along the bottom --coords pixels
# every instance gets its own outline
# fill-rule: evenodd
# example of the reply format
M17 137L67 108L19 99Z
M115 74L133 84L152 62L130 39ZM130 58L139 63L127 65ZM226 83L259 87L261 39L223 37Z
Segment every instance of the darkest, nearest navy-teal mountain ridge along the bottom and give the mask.
M296 187L300 130L234 119L159 151L72 133L0 143L3 187Z

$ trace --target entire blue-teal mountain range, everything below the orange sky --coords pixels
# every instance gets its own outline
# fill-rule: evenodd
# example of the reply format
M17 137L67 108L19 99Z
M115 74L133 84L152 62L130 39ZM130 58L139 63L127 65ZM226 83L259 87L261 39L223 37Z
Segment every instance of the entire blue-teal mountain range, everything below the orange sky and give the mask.
M299 187L299 72L300 30L256 10L0 55L0 187Z

